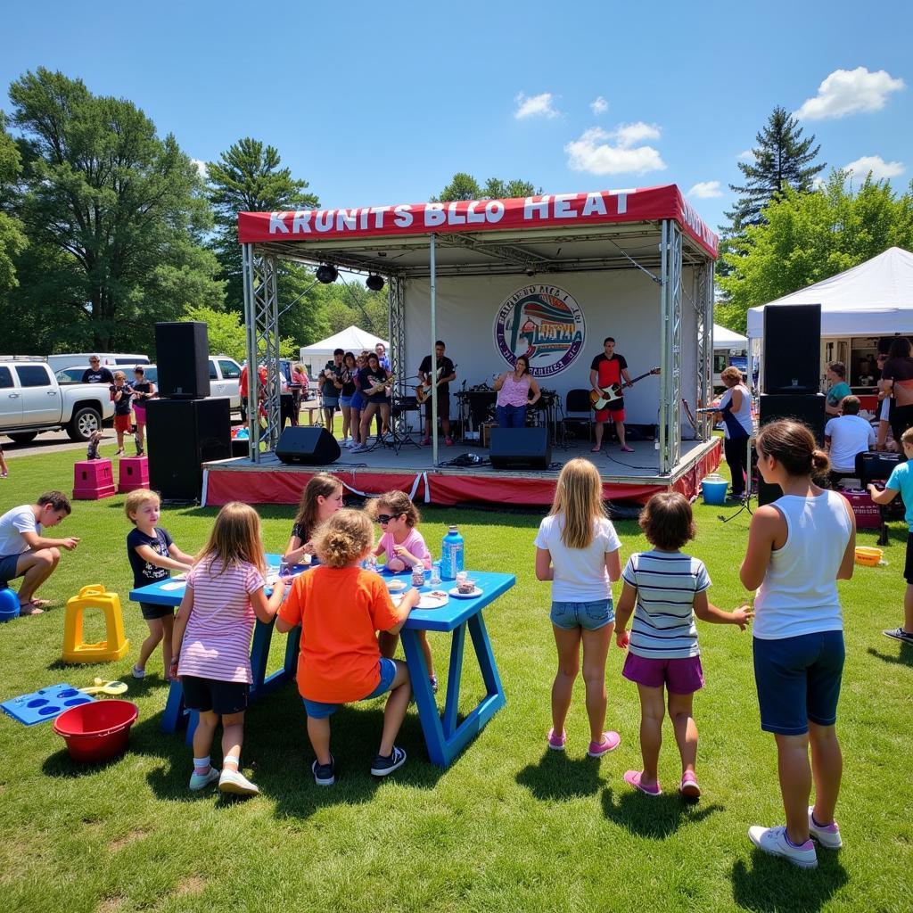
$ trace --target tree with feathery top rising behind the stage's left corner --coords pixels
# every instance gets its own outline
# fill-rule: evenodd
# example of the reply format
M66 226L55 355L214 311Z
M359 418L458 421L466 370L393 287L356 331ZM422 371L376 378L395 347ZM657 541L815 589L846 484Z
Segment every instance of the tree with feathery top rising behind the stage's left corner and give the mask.
M222 152L217 162L206 164L209 203L215 217L213 249L226 279L226 300L231 310L244 312L244 276L237 240L237 214L315 209L320 202L307 193L308 182L293 178L281 167L277 149L245 137ZM326 335L327 322L318 296L304 294L313 273L299 264L281 262L278 275L280 309L291 302L280 318L282 330L302 345Z

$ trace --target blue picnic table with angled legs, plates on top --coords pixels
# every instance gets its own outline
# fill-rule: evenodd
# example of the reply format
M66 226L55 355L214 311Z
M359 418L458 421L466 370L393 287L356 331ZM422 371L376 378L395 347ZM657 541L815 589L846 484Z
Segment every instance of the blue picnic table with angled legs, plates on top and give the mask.
M276 554L267 555L270 573L278 572L279 557ZM425 735L428 757L441 767L448 767L456 755L466 747L467 742L472 740L505 704L504 688L498 676L498 666L495 663L482 610L498 599L498 596L506 593L517 582L517 578L513 574L495 572L473 572L473 577L477 581L478 589L482 591L480 595L469 599L451 596L446 605L439 609L413 609L400 633L406 665L412 677L415 706ZM400 574L399 579L408 584L409 574ZM453 582L445 582L435 589L447 591L453 586ZM422 588L423 592L431 589L429 586ZM130 598L135 602L156 605L180 605L184 598L184 582L172 579L151 583L131 590ZM464 719L458 720L467 630L486 693ZM418 639L419 631L439 631L451 635L443 713L438 711L435 694L428 680L428 668ZM250 687L251 702L266 697L295 677L301 639L300 626L289 631L282 667L268 676L267 662L272 636L273 622L257 621L250 649L250 665L254 679ZM194 711L184 708L184 689L180 682L172 682L162 719L162 729L166 732L176 732L186 725L189 743L193 739L196 719Z

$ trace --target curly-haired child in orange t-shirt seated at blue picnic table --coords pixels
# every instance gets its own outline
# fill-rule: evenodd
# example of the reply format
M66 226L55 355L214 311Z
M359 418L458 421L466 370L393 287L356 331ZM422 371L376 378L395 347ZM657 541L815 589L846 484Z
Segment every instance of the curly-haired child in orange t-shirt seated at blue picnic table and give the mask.
M294 582L276 620L279 632L301 625L298 687L308 714L308 738L317 755L311 771L318 786L336 782L331 715L341 704L389 691L381 747L371 765L374 776L385 777L405 762L405 751L394 740L412 686L405 663L381 656L376 632L398 634L419 593L409 590L394 606L383 580L362 571L361 562L374 540L371 520L360 510L334 513L311 541L323 563Z

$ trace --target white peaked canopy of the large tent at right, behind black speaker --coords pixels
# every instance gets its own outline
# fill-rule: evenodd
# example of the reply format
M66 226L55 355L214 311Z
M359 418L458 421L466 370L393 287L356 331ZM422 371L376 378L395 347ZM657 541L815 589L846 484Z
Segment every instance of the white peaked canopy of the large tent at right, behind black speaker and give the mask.
M913 333L913 254L888 247L858 267L769 303L821 304L822 336ZM752 340L763 334L765 307L748 312Z

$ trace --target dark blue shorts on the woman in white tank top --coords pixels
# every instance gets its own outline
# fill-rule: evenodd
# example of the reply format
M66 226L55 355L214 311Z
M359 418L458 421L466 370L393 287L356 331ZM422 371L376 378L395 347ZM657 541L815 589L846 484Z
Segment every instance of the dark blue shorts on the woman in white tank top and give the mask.
M844 671L843 631L822 631L782 640L752 640L761 729L795 736L809 720L833 726Z

